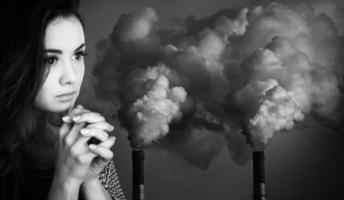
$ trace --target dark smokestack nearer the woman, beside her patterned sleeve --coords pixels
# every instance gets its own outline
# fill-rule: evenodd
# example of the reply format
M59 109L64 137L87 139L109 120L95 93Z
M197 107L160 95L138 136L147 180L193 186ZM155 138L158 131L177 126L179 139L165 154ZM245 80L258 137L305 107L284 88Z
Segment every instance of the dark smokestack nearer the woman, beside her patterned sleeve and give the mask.
M144 200L144 159L142 149L132 151L133 160L133 188L132 200Z

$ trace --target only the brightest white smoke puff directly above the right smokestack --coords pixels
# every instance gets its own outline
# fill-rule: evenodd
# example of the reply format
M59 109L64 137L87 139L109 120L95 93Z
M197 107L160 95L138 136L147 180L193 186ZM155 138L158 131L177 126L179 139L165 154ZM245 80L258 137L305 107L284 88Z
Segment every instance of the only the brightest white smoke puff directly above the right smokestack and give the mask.
M269 81L269 80L268 80ZM271 82L271 81L270 81ZM255 116L249 119L252 148L264 150L274 134L288 131L304 119L302 110L284 88L275 86L259 96Z

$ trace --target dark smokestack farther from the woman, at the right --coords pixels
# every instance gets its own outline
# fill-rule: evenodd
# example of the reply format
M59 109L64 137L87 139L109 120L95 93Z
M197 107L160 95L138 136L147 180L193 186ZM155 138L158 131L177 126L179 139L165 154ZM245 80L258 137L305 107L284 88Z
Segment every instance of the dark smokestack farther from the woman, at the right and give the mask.
M253 199L266 200L264 151L253 152Z

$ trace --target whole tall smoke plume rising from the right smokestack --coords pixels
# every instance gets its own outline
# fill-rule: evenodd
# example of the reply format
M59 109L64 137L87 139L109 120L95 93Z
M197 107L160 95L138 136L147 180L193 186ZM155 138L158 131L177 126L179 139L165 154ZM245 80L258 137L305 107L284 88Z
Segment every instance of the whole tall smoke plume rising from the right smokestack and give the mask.
M258 48L242 64L239 76L248 85L235 97L243 106L248 140L255 150L264 149L275 134L293 128L304 114L333 118L338 107L335 27L330 18L317 16L312 9L300 12L304 6L271 3L256 7L250 15L252 26L242 43Z

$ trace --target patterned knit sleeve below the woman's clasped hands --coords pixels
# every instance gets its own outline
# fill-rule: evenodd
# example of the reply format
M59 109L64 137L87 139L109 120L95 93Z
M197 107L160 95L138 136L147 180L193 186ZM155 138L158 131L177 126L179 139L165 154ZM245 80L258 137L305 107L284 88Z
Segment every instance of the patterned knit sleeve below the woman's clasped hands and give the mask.
M112 200L125 200L125 196L117 176L116 167L112 160L105 166L98 178L104 188L109 192Z

